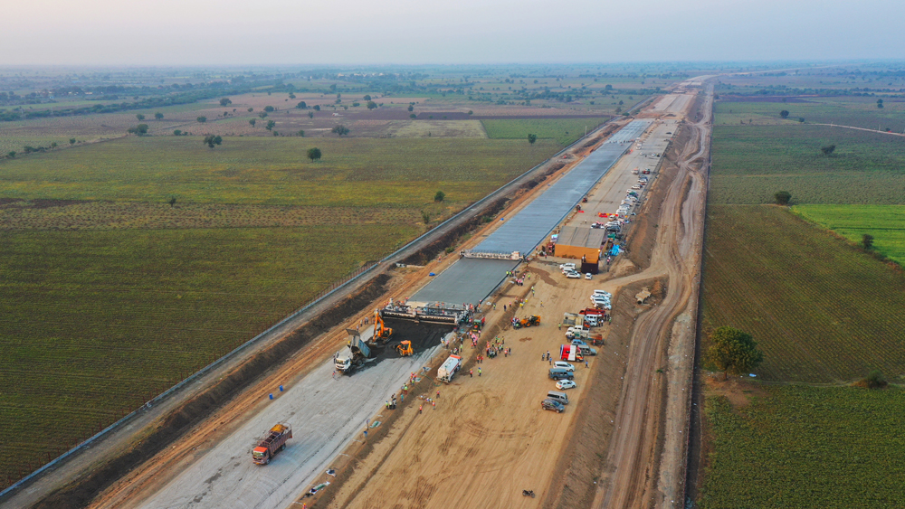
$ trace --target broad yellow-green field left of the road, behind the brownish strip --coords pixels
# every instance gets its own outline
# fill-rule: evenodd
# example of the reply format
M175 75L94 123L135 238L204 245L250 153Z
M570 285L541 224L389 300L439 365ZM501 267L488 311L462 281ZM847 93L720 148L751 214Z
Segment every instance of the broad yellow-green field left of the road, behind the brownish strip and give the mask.
M311 162L308 149L323 158ZM470 203L544 161L552 140L128 137L0 161L6 198L423 207Z

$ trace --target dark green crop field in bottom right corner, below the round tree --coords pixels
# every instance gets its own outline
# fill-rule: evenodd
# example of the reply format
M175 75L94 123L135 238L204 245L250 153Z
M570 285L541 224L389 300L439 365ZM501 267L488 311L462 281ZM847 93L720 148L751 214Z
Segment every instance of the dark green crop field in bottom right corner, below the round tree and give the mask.
M905 391L766 387L733 408L710 395L702 509L905 507Z

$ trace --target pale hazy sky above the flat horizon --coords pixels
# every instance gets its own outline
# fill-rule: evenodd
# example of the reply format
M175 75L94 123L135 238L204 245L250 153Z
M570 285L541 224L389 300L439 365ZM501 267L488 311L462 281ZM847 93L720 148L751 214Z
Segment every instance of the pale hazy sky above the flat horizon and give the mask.
M30 0L2 64L905 58L903 0Z

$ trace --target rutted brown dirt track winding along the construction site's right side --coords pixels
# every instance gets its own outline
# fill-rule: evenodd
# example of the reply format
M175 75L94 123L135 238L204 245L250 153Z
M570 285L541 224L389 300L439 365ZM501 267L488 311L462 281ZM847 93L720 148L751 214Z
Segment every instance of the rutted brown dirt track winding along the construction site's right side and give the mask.
M662 203L651 265L630 277L643 280L665 276L669 279L669 291L660 306L638 316L635 322L625 382L614 419L614 435L595 507L681 507L683 504L678 472L666 476L674 479L672 485L661 485L658 489L657 483L661 465L671 470L683 467L685 441L677 440L675 435L686 429L687 419L669 419L665 427L664 419L667 414L681 416L682 408L687 408L690 389L684 391L685 398L670 398L663 405L668 385L658 382L655 372L667 365L671 338L691 343L693 348L693 319L688 318L695 316L693 310L697 306L712 97L708 88L700 105L700 120L686 125L692 129L691 139L681 152L679 173ZM679 324L674 327L677 318ZM691 360L687 363L690 368ZM668 379L674 383L674 378ZM658 447L662 443L672 447Z

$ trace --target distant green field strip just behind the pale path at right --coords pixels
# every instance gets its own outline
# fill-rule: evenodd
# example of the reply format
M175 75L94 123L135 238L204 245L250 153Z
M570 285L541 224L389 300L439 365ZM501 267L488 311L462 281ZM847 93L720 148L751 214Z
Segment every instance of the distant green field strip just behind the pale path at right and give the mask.
M837 124L864 127L866 129L905 130L905 102L883 99L883 108L877 108L878 97L805 98L805 102L747 102L720 100L715 105L717 126L738 126L749 121L755 125L798 124L798 118L806 123ZM797 100L797 99L793 99ZM785 120L782 110L789 112Z

